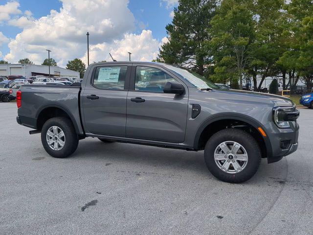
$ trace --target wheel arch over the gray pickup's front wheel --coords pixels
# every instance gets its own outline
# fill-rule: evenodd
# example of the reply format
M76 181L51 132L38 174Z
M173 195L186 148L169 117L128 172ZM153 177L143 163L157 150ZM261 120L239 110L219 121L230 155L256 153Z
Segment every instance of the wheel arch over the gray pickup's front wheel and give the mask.
M265 131L263 125L256 119L251 118L242 114L233 114L233 113L224 113L213 115L212 117L206 119L202 122L195 136L194 140L194 149L202 150L204 149L204 145L206 141L216 132L225 129L227 125L237 123L238 127L244 129L246 127L252 129L252 136L258 141L260 145L260 149L262 151L263 158L269 158L272 155L272 148L270 141L267 137L262 136L262 134L258 131L258 128L261 127L262 130ZM246 125L240 126L240 125ZM248 129L246 129L248 130Z

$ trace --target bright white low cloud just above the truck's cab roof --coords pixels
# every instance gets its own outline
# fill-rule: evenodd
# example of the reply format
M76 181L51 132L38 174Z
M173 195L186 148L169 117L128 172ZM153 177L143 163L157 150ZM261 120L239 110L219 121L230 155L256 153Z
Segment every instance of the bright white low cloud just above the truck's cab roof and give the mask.
M121 40L114 40L112 43L102 43L93 45L89 49L89 62L102 60L112 61L112 57L117 61L128 61L131 52L132 61L151 61L156 59L160 42L153 38L151 30L142 30L141 34L136 35L127 33ZM87 53L81 58L87 61Z

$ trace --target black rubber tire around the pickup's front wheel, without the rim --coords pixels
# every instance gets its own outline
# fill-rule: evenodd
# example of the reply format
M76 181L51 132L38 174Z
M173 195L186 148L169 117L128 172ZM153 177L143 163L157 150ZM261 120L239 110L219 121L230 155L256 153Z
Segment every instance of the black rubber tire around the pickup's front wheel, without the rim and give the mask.
M248 161L242 171L238 173L227 173L220 169L218 164L216 164L214 159L215 150L219 144L224 141L235 141L246 149ZM222 154L224 155L224 152ZM228 158L226 159L228 161ZM215 133L207 141L204 149L204 161L209 171L216 178L229 183L242 183L250 179L258 170L261 162L261 151L255 139L245 131L238 129L224 129ZM223 161L221 162L223 163ZM233 166L231 165L231 167Z

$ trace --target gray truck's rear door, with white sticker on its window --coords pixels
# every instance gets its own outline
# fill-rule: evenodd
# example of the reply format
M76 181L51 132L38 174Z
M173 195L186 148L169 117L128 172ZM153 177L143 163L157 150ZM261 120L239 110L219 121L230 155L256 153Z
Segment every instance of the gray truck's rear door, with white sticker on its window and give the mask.
M82 95L86 133L126 136L126 97L130 73L130 64L94 66Z

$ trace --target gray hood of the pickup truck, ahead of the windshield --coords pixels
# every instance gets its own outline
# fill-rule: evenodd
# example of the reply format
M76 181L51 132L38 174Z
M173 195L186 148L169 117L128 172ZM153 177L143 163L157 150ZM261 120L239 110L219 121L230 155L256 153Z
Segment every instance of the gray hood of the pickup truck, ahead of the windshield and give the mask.
M245 96L251 97L253 100L258 100L258 102L272 102L274 106L281 106L281 107L290 107L293 106L294 103L288 97L284 97L281 95L276 94L267 94L267 93L260 93L260 92L250 92L250 91L242 91L242 90L215 90L219 92L223 92L225 94L232 94L234 96ZM238 97L240 98L240 97Z

